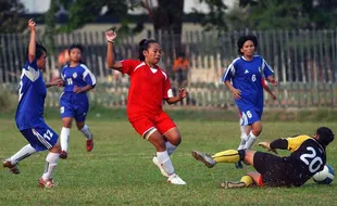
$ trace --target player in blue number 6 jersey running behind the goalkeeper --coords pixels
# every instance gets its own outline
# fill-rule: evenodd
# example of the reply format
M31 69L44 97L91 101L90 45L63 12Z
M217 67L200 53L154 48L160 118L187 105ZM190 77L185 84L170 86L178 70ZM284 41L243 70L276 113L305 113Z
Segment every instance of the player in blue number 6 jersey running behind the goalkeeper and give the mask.
M274 72L264 59L254 55L258 48L255 36L241 36L237 46L241 56L235 59L228 66L223 81L234 94L235 103L241 113L241 126L251 127L251 131L242 137L244 149L250 149L262 130L263 86L261 79L265 78L274 87L277 86L277 80L273 77Z

